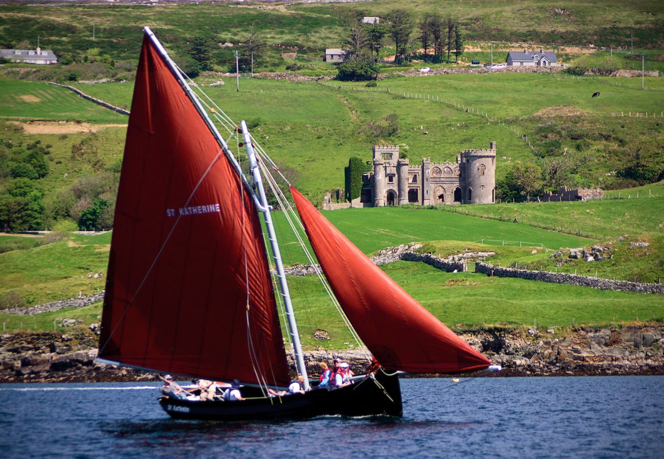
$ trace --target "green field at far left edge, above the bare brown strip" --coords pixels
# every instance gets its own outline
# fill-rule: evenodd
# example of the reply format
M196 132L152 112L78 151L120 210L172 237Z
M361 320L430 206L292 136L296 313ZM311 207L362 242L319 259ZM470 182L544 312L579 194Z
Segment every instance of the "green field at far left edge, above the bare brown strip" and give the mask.
M0 118L126 123L127 117L41 82L0 79Z

